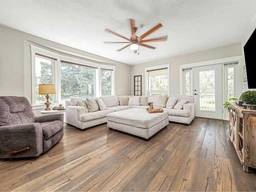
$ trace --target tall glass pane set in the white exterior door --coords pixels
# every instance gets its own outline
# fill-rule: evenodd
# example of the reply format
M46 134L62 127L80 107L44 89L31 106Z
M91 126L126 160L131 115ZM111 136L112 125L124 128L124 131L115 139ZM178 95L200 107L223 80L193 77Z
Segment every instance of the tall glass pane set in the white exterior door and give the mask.
M199 71L200 110L215 111L215 70Z

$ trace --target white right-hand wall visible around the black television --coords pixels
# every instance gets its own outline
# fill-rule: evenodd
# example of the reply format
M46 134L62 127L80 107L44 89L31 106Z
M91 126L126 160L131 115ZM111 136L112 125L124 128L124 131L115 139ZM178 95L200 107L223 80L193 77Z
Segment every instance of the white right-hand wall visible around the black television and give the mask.
M243 65L245 65L245 58L244 58L244 46L246 44L246 42L248 41L248 39L250 38L252 32L255 30L256 28L256 14L251 22L251 25L250 27L248 28L246 34L244 35L243 39L242 39L242 43L241 43L241 46L242 46L242 62L243 62ZM243 68L241 68L241 70L243 70ZM247 82L243 82L243 91L246 91L248 89L248 83Z

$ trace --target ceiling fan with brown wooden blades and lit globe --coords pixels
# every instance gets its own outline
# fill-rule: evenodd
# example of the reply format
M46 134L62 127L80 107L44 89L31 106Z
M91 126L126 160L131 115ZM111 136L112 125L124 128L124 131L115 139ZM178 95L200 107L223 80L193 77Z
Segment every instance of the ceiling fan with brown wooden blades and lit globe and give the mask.
M105 44L128 44L116 51L122 51L123 49L130 46L131 50L133 50L134 53L137 53L139 46L149 48L149 49L156 49L155 47L144 44L144 42L159 42L159 41L167 40L167 36L154 38L154 39L144 39L146 36L150 35L151 33L154 33L155 31L157 31L158 29L163 27L162 24L158 24L157 26L153 27L151 30L145 32L143 35L137 36L136 35L137 28L135 27L135 19L130 19L130 23L131 23L131 31L132 31L132 36L130 38L127 38L119 33L116 33L108 28L105 29L107 32L110 32L114 35L122 37L122 38L126 39L127 41L104 41L104 43Z

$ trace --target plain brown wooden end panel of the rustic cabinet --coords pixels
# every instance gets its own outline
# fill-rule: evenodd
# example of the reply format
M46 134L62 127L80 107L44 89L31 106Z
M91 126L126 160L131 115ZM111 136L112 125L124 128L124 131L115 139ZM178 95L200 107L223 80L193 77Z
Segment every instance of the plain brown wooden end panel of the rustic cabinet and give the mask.
M248 117L249 163L256 165L256 116Z

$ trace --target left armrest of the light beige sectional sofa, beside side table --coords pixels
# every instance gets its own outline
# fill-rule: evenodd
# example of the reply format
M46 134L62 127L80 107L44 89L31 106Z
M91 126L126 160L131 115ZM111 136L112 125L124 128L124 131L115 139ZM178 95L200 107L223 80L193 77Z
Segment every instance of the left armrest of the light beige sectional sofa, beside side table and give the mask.
M83 106L67 106L66 123L73 126L79 126L79 116L86 113L86 108Z

